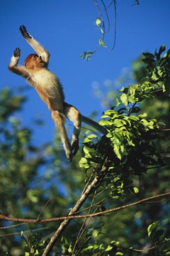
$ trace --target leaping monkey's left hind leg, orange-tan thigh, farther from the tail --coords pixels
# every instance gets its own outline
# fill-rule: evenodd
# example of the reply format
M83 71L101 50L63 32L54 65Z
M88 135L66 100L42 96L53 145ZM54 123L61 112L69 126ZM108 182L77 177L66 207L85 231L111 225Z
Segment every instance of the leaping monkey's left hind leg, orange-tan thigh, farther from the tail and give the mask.
M65 116L63 113L57 110L52 111L52 119L55 122L55 125L58 129L59 135L61 137L64 149L65 149L65 154L67 156L68 161L70 162L72 160L72 151L71 151L71 145L68 140L67 132L65 130Z

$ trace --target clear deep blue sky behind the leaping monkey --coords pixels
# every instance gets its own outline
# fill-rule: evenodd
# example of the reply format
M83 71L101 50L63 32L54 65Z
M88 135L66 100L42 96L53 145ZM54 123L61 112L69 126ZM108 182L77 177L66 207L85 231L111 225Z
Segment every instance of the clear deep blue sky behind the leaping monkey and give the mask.
M105 2L109 5L111 1ZM23 78L7 69L14 48L21 49L20 64L32 52L19 32L19 26L23 24L50 52L49 69L60 78L66 101L75 105L82 114L88 115L94 110L102 113L100 101L93 93L94 81L99 82L102 89L103 81L114 81L141 52L153 52L163 43L167 49L170 48L170 1L141 0L140 5L133 5L134 2L117 0L117 42L114 51L109 51L114 34L112 7L112 12L109 12L111 31L105 40L108 48L100 49L91 61L85 61L79 55L83 51L96 49L100 37L94 25L99 14L93 0L1 0L0 86L12 88L26 84ZM35 114L41 114L46 126L38 128L36 134L39 136L36 136L35 143L52 139L54 124L46 105L34 89L26 94L29 101L19 118L28 124Z

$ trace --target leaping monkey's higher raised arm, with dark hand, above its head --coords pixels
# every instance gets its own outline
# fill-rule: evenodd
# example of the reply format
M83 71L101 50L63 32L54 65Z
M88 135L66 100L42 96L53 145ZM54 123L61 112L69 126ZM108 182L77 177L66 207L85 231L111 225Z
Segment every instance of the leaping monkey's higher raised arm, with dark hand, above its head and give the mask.
M46 49L44 49L44 47L41 46L40 43L38 43L31 35L29 35L24 25L20 26L19 30L22 36L26 39L26 42L28 42L29 45L31 45L31 47L37 52L37 54L41 56L42 60L47 66L50 57L49 52Z

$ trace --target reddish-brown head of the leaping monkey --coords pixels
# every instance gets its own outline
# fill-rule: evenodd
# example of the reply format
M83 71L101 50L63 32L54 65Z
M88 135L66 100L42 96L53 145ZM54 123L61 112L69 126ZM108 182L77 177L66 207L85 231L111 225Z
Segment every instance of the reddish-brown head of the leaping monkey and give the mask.
M24 66L28 69L41 69L44 67L41 56L37 54L29 54L24 61Z

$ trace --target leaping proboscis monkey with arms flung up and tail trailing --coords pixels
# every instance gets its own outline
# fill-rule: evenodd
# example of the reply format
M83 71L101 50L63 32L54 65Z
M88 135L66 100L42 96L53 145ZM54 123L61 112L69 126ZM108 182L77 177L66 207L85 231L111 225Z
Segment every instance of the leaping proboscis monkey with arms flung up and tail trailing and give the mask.
M19 29L26 42L31 45L37 54L29 54L25 58L24 66L19 66L20 48L16 48L8 68L11 72L23 76L37 90L40 98L47 104L51 111L52 119L58 128L67 159L71 161L79 149L81 122L88 123L88 125L93 126L103 134L106 133L106 130L99 123L82 116L73 105L64 102L64 93L58 77L47 69L50 57L49 52L29 35L25 26L22 25ZM65 130L65 116L74 125L71 145Z

